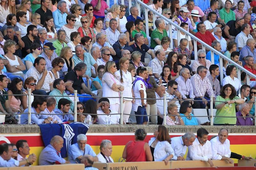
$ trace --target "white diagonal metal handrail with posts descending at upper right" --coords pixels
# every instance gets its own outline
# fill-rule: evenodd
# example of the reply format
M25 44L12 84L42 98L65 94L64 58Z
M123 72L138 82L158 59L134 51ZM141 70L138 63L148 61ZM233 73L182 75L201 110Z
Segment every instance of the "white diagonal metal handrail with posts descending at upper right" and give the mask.
M221 54L219 51L217 51L216 49L212 48L211 46L209 46L208 44L204 43L204 41L200 40L199 38L197 38L195 35L189 33L188 31L186 31L185 29L181 28L180 26L178 26L177 24L175 24L174 22L172 22L170 19L166 18L165 16L163 16L162 14L158 13L157 11L153 10L152 8L150 8L147 4L144 4L142 1L140 0L135 0L135 2L137 3L137 7L138 9L140 9L140 7L138 6L138 4L142 5L145 8L145 23L148 23L148 15L147 12L148 10L153 12L153 22L155 22L156 20L156 16L163 18L166 22L169 23L169 33L170 33L170 37L172 39L172 26L175 26L177 28L177 35L178 35L178 42L180 41L180 31L185 33L185 36L187 38L187 36L190 36L191 38L194 39L194 51L195 51L195 59L197 59L197 41L200 42L203 46L203 49L205 50L205 47L209 48L211 50L211 62L214 64L214 54L218 54L220 56L220 83L222 84L222 79L223 79L223 63L222 63L222 58L224 58L225 60L227 60L229 63L232 63L233 65L235 65L238 68L238 79L241 80L241 70L243 70L247 75L249 75L252 78L256 78L256 75L252 74L250 71L244 69L244 67L238 65L237 63L235 63L234 61L232 61L231 59L229 59L228 57L226 57L225 55ZM141 12L139 12L140 14ZM155 24L154 24L154 29L155 29ZM148 24L146 24L146 34L147 36L148 34ZM170 43L170 47L172 48L172 43ZM250 78L249 76L247 76L247 81L246 84L250 85Z

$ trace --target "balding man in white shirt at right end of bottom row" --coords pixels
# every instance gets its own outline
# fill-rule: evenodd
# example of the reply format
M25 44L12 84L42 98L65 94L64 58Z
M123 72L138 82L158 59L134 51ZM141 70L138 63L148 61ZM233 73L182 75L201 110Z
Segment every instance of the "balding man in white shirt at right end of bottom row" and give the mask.
M221 128L217 137L210 140L212 144L212 160L227 160L233 164L233 159L230 158L230 142L228 138L228 129Z

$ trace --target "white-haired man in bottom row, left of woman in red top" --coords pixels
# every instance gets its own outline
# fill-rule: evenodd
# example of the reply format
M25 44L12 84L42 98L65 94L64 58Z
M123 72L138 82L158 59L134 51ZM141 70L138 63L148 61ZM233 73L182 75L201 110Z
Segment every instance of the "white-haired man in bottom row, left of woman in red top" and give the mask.
M112 153L112 143L110 140L102 140L100 143L100 153L97 155L102 163L112 163L114 160L110 157Z

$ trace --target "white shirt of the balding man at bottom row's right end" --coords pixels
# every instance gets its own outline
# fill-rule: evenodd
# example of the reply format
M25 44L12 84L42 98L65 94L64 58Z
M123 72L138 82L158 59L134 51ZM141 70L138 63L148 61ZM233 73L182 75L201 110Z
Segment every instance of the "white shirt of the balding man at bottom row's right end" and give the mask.
M228 139L222 144L219 136L214 137L211 141L212 144L212 160L221 160L222 156L230 158L230 142Z

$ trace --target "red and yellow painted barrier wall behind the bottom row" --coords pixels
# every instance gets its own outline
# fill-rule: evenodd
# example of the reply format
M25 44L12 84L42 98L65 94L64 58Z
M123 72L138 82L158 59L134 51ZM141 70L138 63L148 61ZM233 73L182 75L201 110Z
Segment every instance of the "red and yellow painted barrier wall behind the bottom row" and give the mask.
M183 134L184 133L170 133L170 137L177 137ZM218 134L210 133L208 140L214 135ZM100 142L103 139L112 141L113 152L111 157L115 162L122 157L125 144L130 140L134 140L134 133L87 133L86 136L87 144L92 146L96 154L100 152ZM148 133L145 142L148 142L151 137L153 137L153 133ZM44 149L44 143L40 133L0 134L0 143L7 142L15 144L20 139L28 141L30 153L35 153L38 159L40 152ZM230 133L228 139L231 144L231 152L251 156L254 159L256 158L256 133ZM234 163L237 163L237 160L234 160ZM34 165L37 165L37 163L38 161L36 161Z

